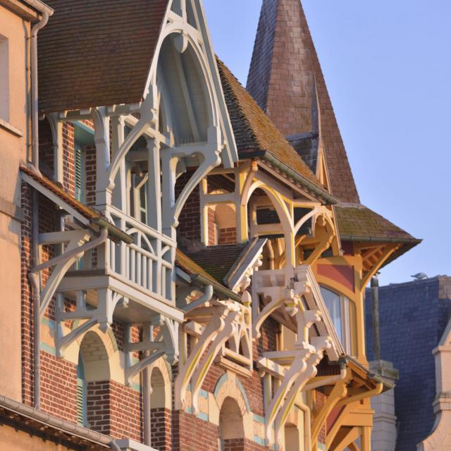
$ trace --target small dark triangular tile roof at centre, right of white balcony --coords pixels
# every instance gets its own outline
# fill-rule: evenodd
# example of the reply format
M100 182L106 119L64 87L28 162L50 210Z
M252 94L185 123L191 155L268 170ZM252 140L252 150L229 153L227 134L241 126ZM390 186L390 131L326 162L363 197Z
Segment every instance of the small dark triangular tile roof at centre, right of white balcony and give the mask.
M196 252L185 251L187 257L202 267L209 277L213 277L217 283L224 285L224 278L230 268L240 257L247 243L237 245L209 246ZM203 275L203 274L202 274Z

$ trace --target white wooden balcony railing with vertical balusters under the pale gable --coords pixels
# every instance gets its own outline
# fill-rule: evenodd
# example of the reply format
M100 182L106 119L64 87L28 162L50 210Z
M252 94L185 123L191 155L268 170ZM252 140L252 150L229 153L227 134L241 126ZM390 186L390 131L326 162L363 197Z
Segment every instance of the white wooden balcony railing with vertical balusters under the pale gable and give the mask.
M172 302L175 242L113 206L108 207L106 214L135 240L131 245L108 240L105 260L110 271L125 282Z

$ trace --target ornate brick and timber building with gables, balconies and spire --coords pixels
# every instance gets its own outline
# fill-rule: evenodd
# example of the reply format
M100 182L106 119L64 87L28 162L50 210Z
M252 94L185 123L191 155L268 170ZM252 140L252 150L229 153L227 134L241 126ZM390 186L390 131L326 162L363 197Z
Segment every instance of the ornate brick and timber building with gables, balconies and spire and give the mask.
M247 89L200 0L0 5L8 449L369 451L364 290L419 240L360 203L299 1Z

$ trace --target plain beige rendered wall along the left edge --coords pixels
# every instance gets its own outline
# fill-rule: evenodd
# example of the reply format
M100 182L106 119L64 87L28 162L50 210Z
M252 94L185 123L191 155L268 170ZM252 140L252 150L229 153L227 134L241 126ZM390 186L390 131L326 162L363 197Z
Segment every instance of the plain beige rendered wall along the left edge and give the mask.
M27 38L30 35L30 24L0 6L0 35L1 39L8 39L10 100L8 122L0 123L0 394L20 401L18 168L20 163L25 162L27 155Z

